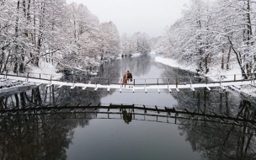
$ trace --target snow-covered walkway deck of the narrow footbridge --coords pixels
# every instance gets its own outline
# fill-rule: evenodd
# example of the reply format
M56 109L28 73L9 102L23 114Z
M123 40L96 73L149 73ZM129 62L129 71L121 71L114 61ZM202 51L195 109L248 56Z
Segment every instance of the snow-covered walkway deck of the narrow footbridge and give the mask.
M67 82L61 82L58 80L52 80L52 79L41 79L41 78L36 78L36 77L19 77L19 76L14 76L14 75L0 75L1 81L5 81L7 78L11 80L16 80L16 81L22 81L25 83L37 83L39 84L48 84L49 86L51 85L57 85L59 88L62 86L67 86L71 88L93 88L95 91L98 88L105 88L107 91L110 89L120 89L120 92L122 90L131 90L133 92L136 92L136 90L143 90L147 93L148 89L155 89L157 92L160 92L160 89L168 89L169 92L172 92L172 89L176 90L179 92L179 89L182 88L190 88L192 91L195 91L195 88L207 88L208 90L211 90L211 88L222 88L225 89L224 87L228 86L241 86L241 85L253 85L254 82L253 80L237 80L237 81L219 81L219 82L205 82L205 83L147 83L147 79L145 79L145 83L128 83L126 85L122 85L121 83L109 83L109 84L100 84L100 83L67 83ZM188 77L189 78L189 77ZM195 77L191 77L195 78ZM134 79L135 81L136 79ZM120 80L121 82L121 80Z

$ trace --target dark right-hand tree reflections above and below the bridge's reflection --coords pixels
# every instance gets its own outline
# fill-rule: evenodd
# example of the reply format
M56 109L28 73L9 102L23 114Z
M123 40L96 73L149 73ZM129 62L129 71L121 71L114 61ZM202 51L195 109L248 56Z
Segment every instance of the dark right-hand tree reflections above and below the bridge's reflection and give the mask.
M231 92L182 92L173 94L178 100L177 108L186 108L205 114L228 115L231 117L252 120L255 118L255 103ZM253 103L253 104L252 104ZM193 120L194 119L194 120ZM179 130L186 133L194 151L203 152L205 159L255 159L255 129L253 124L244 122L242 125L225 124L208 121L207 117L198 120L180 120Z

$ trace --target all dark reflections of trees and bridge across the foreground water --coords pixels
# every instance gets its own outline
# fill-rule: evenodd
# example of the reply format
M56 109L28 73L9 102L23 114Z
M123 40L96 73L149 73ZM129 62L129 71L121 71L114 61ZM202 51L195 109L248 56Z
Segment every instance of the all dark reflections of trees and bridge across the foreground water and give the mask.
M136 120L177 124L180 134L186 136L193 151L202 152L205 159L255 159L255 102L246 96L232 92L184 90L173 94L179 102L174 112L172 109L143 106L141 110L136 108L134 111L132 105L126 109L112 105L112 108L107 106L95 110L88 104L99 104L98 94L41 86L1 97L1 157L67 159L66 150L72 143L74 129L86 127L90 120L101 120L103 117L100 115L108 115L106 119L116 118L126 124L136 123ZM67 104L87 107L60 107ZM32 109L36 107L41 108ZM21 110L18 113L4 111L17 108Z

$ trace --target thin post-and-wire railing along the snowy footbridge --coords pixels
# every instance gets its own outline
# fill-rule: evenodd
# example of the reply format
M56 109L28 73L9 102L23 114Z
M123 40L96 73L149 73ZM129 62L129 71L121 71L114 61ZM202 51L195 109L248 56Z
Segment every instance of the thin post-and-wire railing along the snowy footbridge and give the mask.
M47 74L37 72L4 72L1 73L5 77L16 76L25 78L37 78L43 80L58 80L62 82L72 83L96 83L96 84L120 84L122 79L111 77L88 77L88 76L63 76L62 74ZM247 80L254 80L254 73L249 74ZM221 83L221 82L241 82L244 81L244 74L229 74L229 75L216 75L216 76L195 76L195 77L161 77L161 78L134 78L132 81L128 80L126 85L168 85L168 84L188 84L188 83Z

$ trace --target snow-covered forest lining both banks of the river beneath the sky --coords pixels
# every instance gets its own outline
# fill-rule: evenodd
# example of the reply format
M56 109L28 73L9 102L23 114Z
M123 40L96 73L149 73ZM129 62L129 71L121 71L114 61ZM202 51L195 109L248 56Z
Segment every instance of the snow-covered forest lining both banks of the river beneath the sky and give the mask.
M51 62L88 70L133 53L163 53L204 73L239 65L254 72L255 0L191 0L183 15L159 37L120 35L113 22L99 22L83 4L65 0L0 1L0 72L26 72Z

